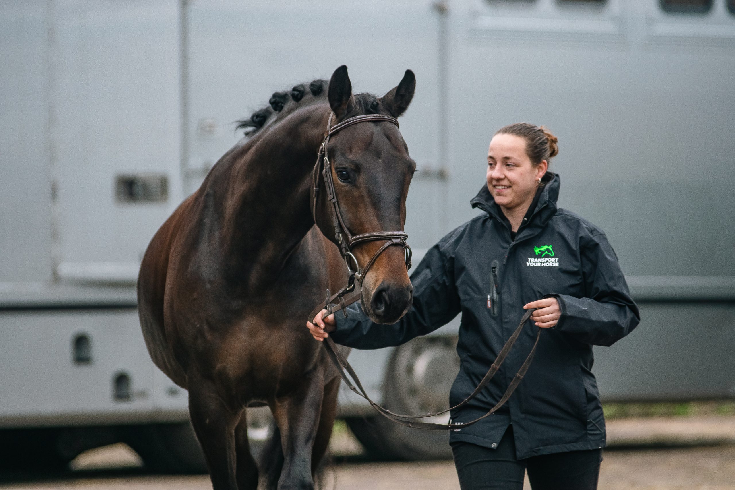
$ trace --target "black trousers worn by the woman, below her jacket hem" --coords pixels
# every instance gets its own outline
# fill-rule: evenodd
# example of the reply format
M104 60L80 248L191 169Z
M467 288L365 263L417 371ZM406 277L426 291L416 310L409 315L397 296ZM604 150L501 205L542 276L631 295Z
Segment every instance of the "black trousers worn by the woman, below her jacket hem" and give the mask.
M452 452L462 490L522 490L526 470L534 490L595 490L602 461L601 449L516 459L512 425L498 449L453 442Z

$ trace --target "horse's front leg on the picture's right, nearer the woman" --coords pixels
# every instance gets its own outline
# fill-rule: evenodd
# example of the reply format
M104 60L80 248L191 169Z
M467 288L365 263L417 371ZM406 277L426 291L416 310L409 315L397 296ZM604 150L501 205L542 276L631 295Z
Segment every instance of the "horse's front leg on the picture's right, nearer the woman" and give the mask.
M271 406L281 430L284 464L279 490L312 490L312 447L320 419L324 393L324 369L316 367L304 375L293 392L276 399Z

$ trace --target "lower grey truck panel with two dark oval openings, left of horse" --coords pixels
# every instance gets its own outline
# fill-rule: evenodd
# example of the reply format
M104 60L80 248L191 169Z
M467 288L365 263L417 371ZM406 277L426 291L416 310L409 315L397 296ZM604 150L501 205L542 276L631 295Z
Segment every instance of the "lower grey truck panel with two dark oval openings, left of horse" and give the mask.
M92 362L72 362L72 339L87 334ZM154 385L154 368L135 309L101 311L0 312L0 426L153 421L171 418L154 400L176 397L185 419L186 397ZM126 372L132 399L112 398L112 379ZM154 387L157 392L154 392ZM162 393L159 393L162 392ZM167 408L163 414L158 414ZM181 414L184 414L183 416Z

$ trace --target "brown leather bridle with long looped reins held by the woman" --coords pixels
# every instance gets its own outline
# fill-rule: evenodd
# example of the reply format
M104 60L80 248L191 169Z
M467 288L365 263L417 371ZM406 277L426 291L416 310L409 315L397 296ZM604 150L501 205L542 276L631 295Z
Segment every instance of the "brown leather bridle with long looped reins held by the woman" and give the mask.
M319 194L319 173L322 174L322 180L324 181L324 187L326 188L326 197L329 199L329 202L331 203L330 209L331 209L331 218L332 218L332 226L334 227L334 239L337 242L337 245L340 247L340 253L342 254L343 259L345 260L345 264L347 264L348 271L350 273L347 285L340 289L338 292L334 293L334 295L331 295L329 292L329 289L326 290L326 299L320 303L319 306L317 306L314 311L309 314L309 322L314 322L314 317L321 311L322 309L326 309L327 313L324 315L325 317L329 316L330 314L336 312L336 311L343 311L345 318L347 317L347 306L351 305L352 303L355 303L362 297L362 281L365 279L365 275L368 273L368 270L370 270L370 267L373 265L373 263L376 261L378 256L383 253L388 247L392 245L400 245L404 248L405 251L405 262L406 262L406 269L410 269L411 267L411 248L409 247L408 243L406 243L406 239L408 239L408 235L404 231L374 231L370 233L363 233L358 235L353 235L348 230L347 226L345 226L344 220L342 219L342 215L340 213L340 205L337 202L337 192L334 190L334 179L331 175L331 162L329 162L329 157L327 156L327 150L329 148L329 137L331 137L332 134L336 133L337 131L340 131L341 129L346 128L347 126L351 126L352 124L356 123L362 123L362 122L379 122L379 121L387 121L390 123L395 124L395 126L398 126L398 120L395 118L392 118L387 115L381 115L381 114L370 114L370 115L359 115L355 116L354 118L348 118L343 120L341 123L336 124L335 126L331 126L331 118L332 114L329 115L329 121L327 123L327 130L326 134L324 136L324 140L322 141L322 144L319 147L319 152L317 155L317 162L314 165L314 170L312 171L312 217L314 217L314 222L316 223L316 216L317 216L317 198ZM384 240L384 244L381 246L381 248L376 251L376 253L373 253L373 256L368 261L368 264L365 265L365 267L360 267L359 263L357 262L356 257L351 252L354 245L359 245L360 243L365 242L374 242L374 241L381 241ZM352 267L354 266L354 268ZM355 280L357 282L355 282ZM351 293L348 295L348 293ZM470 422L464 422L464 423L448 423L448 424L437 424L433 422L421 422L416 419L424 419L427 417L435 417L437 415L446 414L448 411L454 410L456 408L460 408L462 406L467 405L467 403L470 403L470 400L472 400L474 397L477 396L484 388L487 386L487 383L490 383L490 380L495 375L498 370L500 370L501 365L503 364L503 361L505 361L506 356L508 356L508 353L510 352L511 348L515 344L516 340L518 339L518 336L520 336L520 332L523 330L523 325L526 324L528 319L531 317L531 313L534 311L534 309L530 309L526 311L526 314L523 315L523 318L520 320L520 323L518 324L517 328L513 332L513 334L508 339L508 342L506 342L505 345L503 345L503 349L500 353L498 353L498 357L495 359L495 362L492 363L490 366L490 369L487 370L487 373L482 378L482 381L477 385L475 390L465 398L465 400L462 400L461 403L458 403L456 406L453 406L451 408L447 408L444 411L440 411L437 413L429 413L429 414L423 414L423 415L401 415L401 414L394 414L387 408L383 408L379 406L378 403L375 403L373 400L370 399L368 396L368 393L365 391L365 388L363 388L362 383L360 383L359 378L357 377L356 372L350 365L350 363L347 361L347 358L343 355L343 353L340 352L339 348L336 344L334 344L334 341L331 339L331 336L328 336L325 339L325 342L323 342L324 348L326 349L327 355L329 355L329 359L331 359L332 364L334 364L334 367L337 368L337 372L340 374L340 378L343 379L345 384L351 389L354 393L358 394L360 397L365 398L365 400L370 403L370 406L372 406L379 414L381 414L383 417L386 417L387 419L392 420L393 422L396 422L397 424L404 425L406 427L412 427L412 428L420 428L420 429L428 429L428 430L452 430L456 428L462 428L467 427L469 425L473 425L476 422L479 422L480 420L484 419L485 417L490 417L490 415L494 414L495 411L498 411L498 408L501 408L510 398L510 396L513 394L515 389L517 388L520 381L523 379L523 376L526 375L526 372L528 371L528 367L531 366L531 361L534 359L534 354L536 353L536 347L539 344L539 337L541 336L541 328L538 329L537 335L536 335L536 342L534 342L534 347L531 348L531 352L528 353L528 356L526 357L526 360L523 361L523 364L521 364L520 369L514 376L511 383L509 383L508 388L506 389L506 392L503 393L503 396L500 400L498 400L498 403L495 404L492 408L490 408L489 411L487 411L486 414L482 415L481 417L478 417L474 420L471 420Z

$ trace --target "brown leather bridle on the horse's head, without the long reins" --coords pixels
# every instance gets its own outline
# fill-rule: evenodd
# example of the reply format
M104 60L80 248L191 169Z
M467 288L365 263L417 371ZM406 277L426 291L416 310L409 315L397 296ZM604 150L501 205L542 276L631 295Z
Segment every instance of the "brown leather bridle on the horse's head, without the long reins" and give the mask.
M342 213L340 212L340 203L337 201L337 191L334 189L334 178L331 175L331 162L329 162L328 156L329 139L333 134L345 129L346 127L352 126L353 124L357 123L378 123L381 121L393 123L396 127L398 127L398 120L389 115L366 114L358 115L354 118L345 119L341 123L337 123L332 126L331 118L333 115L334 113L329 114L326 133L324 134L324 139L319 147L317 162L314 165L314 170L312 170L312 217L314 218L314 222L316 223L317 201L320 190L319 173L321 173L321 180L324 182L324 187L326 189L326 198L329 199L330 203L329 208L331 209L331 224L334 227L334 240L337 242L337 246L340 248L340 253L342 254L342 258L345 260L345 264L347 264L347 268L350 272L350 277L348 279L347 286L345 286L343 289L340 289L340 291L337 292L335 295L330 296L329 290L327 290L326 301L322 303L316 311L320 311L325 306L331 306L331 308L328 308L330 311L344 310L348 305L354 303L356 300L359 300L361 294L359 289L362 289L362 281L365 280L365 275L368 274L368 270L370 270L370 267L373 266L380 254L383 253L388 247L391 247L393 245L399 245L403 247L406 270L411 268L412 253L411 248L409 247L408 243L406 243L406 240L409 236L408 234L406 234L405 231L370 231L368 233L361 233L357 235L351 234L349 228L345 225L345 221L342 218ZM378 241L384 241L384 244L381 246L381 248L378 249L378 251L376 251L376 253L373 253L373 256L370 257L370 260L367 264L365 264L365 267L360 267L360 264L357 262L357 258L352 253L354 246L365 242ZM359 288L355 287L355 280L357 280L357 285L359 285ZM345 299L344 297L348 292L354 292L355 294L349 299ZM332 305L331 301L334 300L338 300L339 303ZM345 315L346 314L347 313L345 311Z

